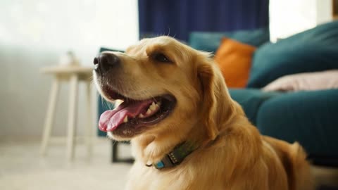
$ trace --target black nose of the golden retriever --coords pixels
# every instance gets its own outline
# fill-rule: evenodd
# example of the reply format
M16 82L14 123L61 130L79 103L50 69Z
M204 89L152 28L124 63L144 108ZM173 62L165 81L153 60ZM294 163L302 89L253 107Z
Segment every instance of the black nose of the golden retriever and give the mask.
M101 53L94 58L95 70L99 69L101 72L106 72L119 64L120 58L113 53Z

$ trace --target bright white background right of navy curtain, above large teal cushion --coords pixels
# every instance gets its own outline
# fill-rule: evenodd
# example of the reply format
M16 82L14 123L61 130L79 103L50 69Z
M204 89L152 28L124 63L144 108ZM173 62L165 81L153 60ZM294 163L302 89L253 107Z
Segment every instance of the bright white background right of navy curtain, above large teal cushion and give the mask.
M269 9L272 42L332 20L332 0L270 0Z

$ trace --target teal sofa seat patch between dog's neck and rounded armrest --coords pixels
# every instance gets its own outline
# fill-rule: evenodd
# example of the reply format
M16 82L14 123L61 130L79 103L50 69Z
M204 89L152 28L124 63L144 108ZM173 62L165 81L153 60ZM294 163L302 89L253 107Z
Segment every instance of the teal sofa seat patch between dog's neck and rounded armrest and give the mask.
M273 96L280 93L264 92L259 89L229 89L230 96L234 101L237 101L249 120L256 125L256 116L261 104Z

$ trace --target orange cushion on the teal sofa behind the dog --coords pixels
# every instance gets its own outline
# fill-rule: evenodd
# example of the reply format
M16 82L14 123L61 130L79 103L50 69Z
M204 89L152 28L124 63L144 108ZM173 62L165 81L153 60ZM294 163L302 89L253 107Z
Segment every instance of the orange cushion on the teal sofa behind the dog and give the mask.
M251 59L256 47L223 37L215 53L227 87L244 88L249 80Z

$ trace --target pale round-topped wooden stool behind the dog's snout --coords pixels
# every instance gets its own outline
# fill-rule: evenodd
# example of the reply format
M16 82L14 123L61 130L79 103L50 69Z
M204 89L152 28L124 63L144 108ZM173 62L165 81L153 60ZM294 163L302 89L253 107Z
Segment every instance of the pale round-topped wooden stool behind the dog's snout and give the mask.
M78 84L80 81L87 85L87 129L85 130L85 140L87 144L88 156L92 155L92 139L94 138L94 126L92 126L92 98L91 98L91 80L92 70L90 67L82 66L55 66L42 68L41 72L49 75L54 75L54 80L51 85L51 94L49 96L49 105L46 112L46 120L44 123L44 132L42 134L41 154L46 155L46 148L51 139L51 129L54 122L54 112L58 99L58 91L62 81L69 82L69 106L68 106L68 127L66 137L66 154L68 160L73 160L75 151L75 126L77 120L77 97Z

